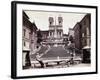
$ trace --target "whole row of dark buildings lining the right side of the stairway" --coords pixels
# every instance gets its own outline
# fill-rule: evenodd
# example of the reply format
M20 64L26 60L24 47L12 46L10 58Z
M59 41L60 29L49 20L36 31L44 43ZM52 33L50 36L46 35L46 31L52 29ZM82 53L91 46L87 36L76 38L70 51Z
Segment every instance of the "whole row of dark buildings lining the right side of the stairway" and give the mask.
M83 53L83 62L91 62L91 15L86 14L74 28L75 48Z

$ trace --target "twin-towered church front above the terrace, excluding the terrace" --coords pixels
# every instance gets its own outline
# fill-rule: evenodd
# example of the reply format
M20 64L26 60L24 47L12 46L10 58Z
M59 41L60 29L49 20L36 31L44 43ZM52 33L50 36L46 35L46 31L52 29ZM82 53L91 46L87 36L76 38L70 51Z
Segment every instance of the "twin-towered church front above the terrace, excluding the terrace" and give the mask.
M63 36L63 18L58 17L58 20L54 20L53 17L49 17L49 38L50 39L61 39Z

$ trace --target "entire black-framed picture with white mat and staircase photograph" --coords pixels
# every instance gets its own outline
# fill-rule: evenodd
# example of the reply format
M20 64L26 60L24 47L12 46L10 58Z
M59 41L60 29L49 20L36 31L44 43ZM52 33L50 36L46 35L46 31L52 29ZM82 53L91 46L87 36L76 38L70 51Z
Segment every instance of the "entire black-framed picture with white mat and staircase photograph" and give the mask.
M12 76L97 73L97 7L12 2Z

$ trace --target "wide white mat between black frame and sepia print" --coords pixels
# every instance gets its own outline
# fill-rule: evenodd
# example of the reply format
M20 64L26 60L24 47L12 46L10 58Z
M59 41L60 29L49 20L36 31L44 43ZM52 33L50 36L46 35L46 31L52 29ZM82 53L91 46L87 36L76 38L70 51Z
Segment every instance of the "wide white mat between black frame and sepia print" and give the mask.
M80 12L91 13L91 67L82 68L60 68L58 69L22 69L22 10L45 10L45 11L61 11L61 12ZM71 74L96 72L96 9L67 7L67 6L50 6L50 5L33 5L33 4L17 4L17 76L38 76L53 74Z

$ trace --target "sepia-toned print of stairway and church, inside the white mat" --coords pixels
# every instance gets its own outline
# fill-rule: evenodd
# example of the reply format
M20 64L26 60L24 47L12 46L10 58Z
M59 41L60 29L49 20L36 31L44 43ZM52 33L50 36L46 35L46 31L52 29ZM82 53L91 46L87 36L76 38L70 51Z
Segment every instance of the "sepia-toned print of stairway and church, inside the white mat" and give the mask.
M23 10L23 69L91 66L91 14Z

